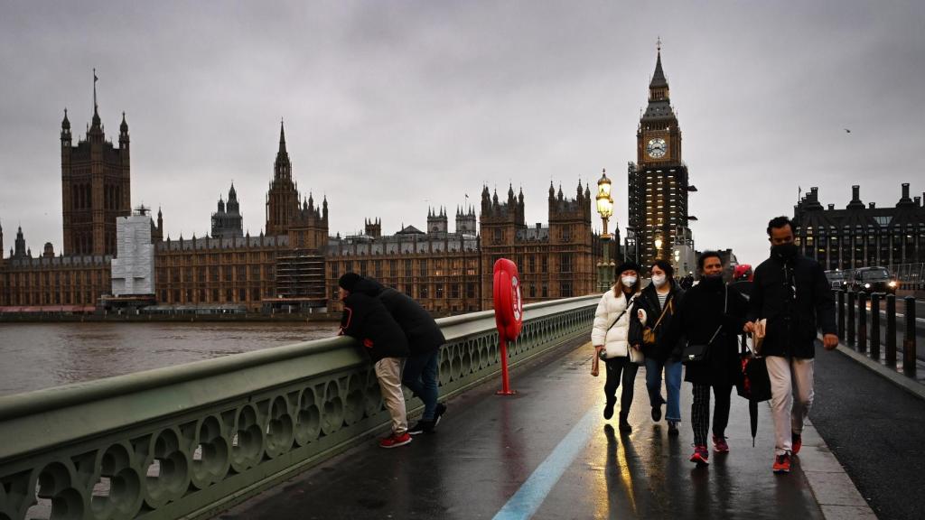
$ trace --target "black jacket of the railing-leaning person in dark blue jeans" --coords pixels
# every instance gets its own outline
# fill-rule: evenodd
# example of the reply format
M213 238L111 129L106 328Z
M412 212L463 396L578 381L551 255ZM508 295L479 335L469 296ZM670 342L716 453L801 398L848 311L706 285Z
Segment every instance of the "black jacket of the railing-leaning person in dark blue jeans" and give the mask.
M375 296L386 306L388 313L408 338L408 348L412 354L432 353L446 342L433 316L407 294L367 278L357 281L353 291Z

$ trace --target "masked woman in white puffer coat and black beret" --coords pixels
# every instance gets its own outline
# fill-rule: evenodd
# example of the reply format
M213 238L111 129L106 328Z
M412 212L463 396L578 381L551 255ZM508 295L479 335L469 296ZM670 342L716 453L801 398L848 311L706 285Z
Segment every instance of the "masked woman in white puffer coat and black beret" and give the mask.
M617 267L617 282L612 291L607 291L598 303L594 315L594 328L591 329L591 344L594 345L595 358L591 375L598 376L598 358L604 360L606 379L604 395L604 418L613 416L613 405L617 402L617 389L623 382L623 395L620 399L620 431L631 432L633 427L627 421L630 405L633 403L633 383L639 365L633 360L642 359L638 345L631 345L630 320L635 318L633 305L639 294L639 266L626 262Z

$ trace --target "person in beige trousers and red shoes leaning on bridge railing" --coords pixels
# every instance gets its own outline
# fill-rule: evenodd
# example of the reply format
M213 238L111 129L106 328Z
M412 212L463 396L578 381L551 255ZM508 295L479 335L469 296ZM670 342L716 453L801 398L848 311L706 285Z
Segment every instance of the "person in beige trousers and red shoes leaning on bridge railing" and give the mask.
M340 333L359 341L376 369L382 400L392 418L392 434L379 440L382 448L395 448L411 442L401 392L401 367L408 357L408 340L382 302L354 291L360 275L347 273L338 280L339 297L344 303Z

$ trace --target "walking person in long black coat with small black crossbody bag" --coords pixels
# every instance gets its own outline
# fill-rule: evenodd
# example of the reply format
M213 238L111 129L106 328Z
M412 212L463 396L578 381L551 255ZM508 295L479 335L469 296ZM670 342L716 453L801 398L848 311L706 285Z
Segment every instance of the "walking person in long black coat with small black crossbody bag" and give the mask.
M685 292L684 302L672 320L669 341L682 336L687 344L709 343L709 355L700 362L686 363L685 381L693 383L691 426L695 451L691 462L706 465L709 424L709 390L713 389L713 451L729 452L726 425L729 423L730 396L742 378L738 334L746 323L747 302L739 291L722 281L720 254L704 252L698 260L700 283ZM680 346L678 347L681 348Z

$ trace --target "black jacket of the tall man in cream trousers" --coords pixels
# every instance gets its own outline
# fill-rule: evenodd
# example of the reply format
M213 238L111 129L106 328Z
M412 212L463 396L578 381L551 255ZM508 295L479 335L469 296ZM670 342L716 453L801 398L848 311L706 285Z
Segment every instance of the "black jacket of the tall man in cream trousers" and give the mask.
M816 328L836 333L835 299L819 262L772 256L755 269L752 285L748 319L768 319L762 354L814 357Z

